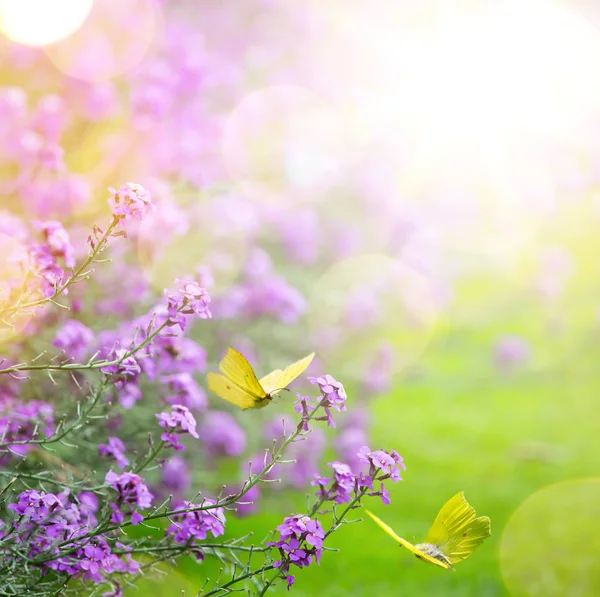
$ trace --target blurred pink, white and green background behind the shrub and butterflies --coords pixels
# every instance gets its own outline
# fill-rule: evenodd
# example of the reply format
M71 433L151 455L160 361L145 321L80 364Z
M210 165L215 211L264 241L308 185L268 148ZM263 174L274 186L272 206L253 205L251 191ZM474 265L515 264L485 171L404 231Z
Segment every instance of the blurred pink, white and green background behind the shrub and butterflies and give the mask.
M298 597L600 594L598 26L583 0L0 0L5 254L15 219L61 220L83 254L105 189L138 182L157 211L93 300L73 289L88 325L195 272L200 392L228 345L261 374L315 350L346 386L337 429L228 536L262 538L364 443L404 457L371 508L408 540L458 491L492 519L452 574L348 525ZM292 414L208 401L228 434L172 485L239 482ZM217 575L190 560L140 586Z

